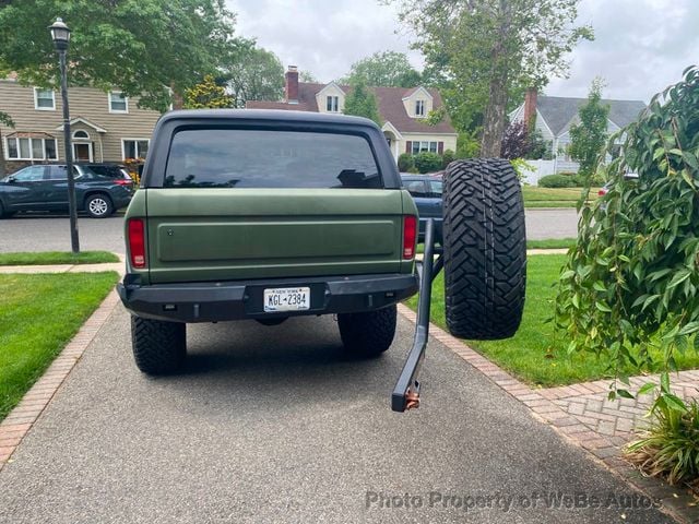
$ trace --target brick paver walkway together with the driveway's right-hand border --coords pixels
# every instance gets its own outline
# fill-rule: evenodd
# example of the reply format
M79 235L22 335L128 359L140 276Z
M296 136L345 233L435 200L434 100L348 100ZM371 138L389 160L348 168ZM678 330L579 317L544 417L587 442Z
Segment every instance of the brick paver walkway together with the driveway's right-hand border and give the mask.
M416 314L404 305L399 312L414 323ZM500 367L471 349L445 330L429 324L430 336L438 340L466 362L529 407L534 418L548 424L565 440L584 449L595 462L620 476L633 488L660 502L661 509L679 522L699 522L697 500L678 487L643 476L621 456L623 446L632 438L632 429L647 413L650 398L607 401L609 381L599 380L561 388L532 389ZM699 396L699 371L682 371L675 380L677 393ZM635 377L631 385L656 380Z

